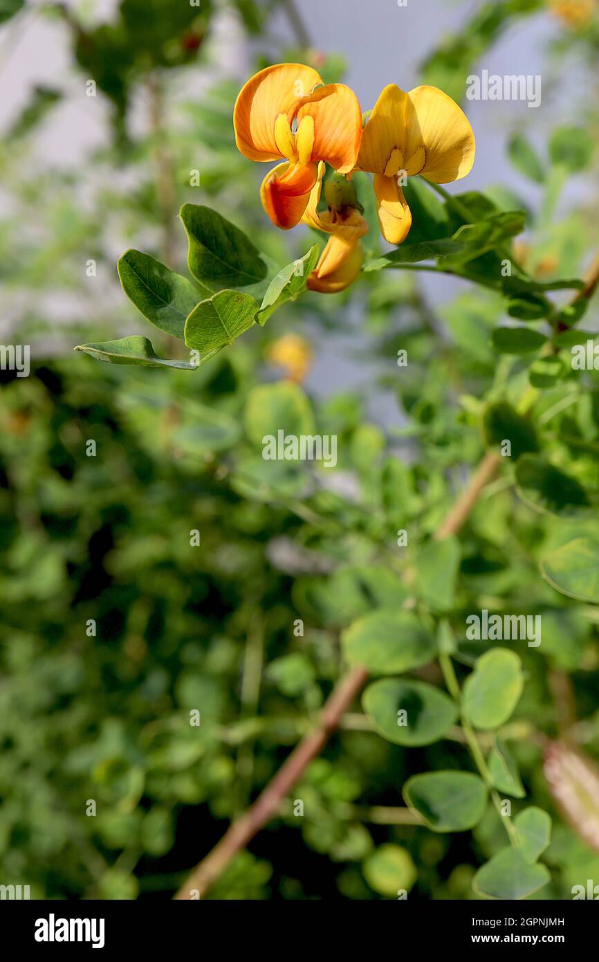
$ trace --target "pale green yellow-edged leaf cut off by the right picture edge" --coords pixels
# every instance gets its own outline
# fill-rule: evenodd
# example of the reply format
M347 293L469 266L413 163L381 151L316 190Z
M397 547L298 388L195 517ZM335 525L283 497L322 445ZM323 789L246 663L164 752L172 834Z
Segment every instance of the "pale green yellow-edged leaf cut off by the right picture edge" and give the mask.
M562 595L599 604L598 538L575 538L562 544L541 560L540 570Z

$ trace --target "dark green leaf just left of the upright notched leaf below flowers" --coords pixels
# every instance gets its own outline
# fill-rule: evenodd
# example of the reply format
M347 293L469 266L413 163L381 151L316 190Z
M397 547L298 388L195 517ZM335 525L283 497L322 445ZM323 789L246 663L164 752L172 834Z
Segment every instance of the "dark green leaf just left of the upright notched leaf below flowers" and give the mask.
M187 278L133 249L119 257L116 268L137 310L161 331L183 340L186 317L200 299Z

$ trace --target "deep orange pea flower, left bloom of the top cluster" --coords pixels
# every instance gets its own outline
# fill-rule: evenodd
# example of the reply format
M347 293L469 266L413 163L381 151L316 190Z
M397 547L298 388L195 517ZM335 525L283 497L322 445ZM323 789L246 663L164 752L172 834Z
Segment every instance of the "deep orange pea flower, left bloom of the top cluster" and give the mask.
M251 161L284 161L262 183L275 226L301 220L324 161L339 173L356 166L362 141L358 98L344 84L324 85L302 63L278 63L248 80L234 111L237 148Z

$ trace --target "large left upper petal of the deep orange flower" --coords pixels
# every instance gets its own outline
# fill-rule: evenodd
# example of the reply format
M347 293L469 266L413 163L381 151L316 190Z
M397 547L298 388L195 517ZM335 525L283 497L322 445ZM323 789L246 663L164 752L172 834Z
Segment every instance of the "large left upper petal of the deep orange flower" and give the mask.
M250 161L277 161L281 151L275 140L279 114L289 123L302 97L322 81L311 66L277 63L255 74L240 90L233 114L238 150Z

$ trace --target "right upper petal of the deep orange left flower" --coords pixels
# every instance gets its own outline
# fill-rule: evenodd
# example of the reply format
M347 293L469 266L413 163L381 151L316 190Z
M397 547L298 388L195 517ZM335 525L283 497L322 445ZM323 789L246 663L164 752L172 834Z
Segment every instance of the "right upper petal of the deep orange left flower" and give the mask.
M303 98L297 112L314 120L312 161L326 161L340 174L356 166L362 142L362 111L358 97L345 84L319 87Z

